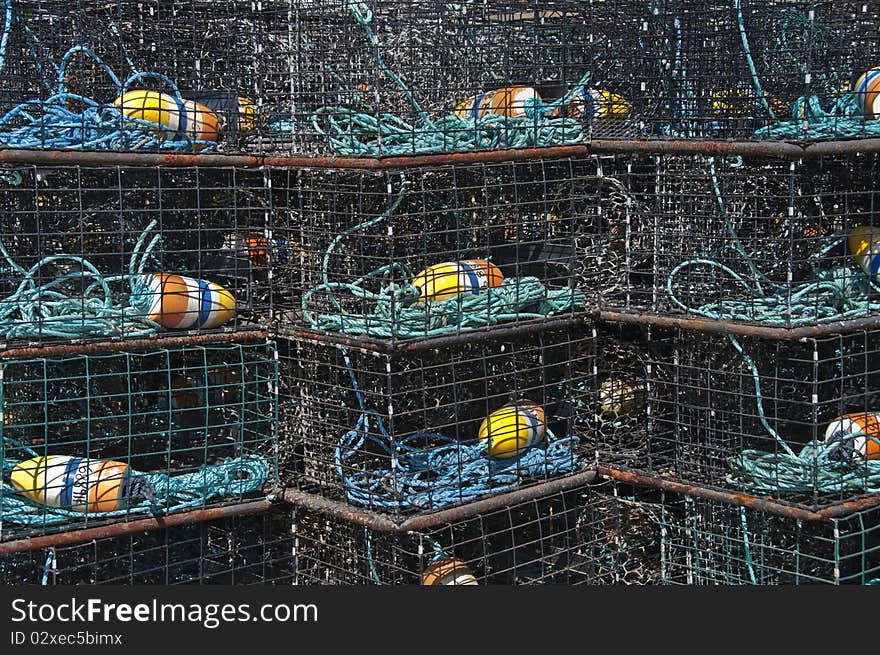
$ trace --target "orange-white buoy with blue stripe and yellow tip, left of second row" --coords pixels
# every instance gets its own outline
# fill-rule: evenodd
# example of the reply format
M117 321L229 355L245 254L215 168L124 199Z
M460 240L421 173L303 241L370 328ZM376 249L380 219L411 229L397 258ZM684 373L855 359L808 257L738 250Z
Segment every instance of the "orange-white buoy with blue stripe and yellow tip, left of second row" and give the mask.
M146 276L147 318L168 329L220 327L235 316L235 297L215 282L171 273Z

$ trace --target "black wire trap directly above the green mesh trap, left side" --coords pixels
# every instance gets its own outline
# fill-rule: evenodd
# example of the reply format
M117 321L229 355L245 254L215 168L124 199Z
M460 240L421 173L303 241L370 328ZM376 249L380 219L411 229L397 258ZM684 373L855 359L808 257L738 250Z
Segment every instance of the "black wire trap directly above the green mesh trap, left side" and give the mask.
M22 166L0 183L0 342L265 326L259 171Z

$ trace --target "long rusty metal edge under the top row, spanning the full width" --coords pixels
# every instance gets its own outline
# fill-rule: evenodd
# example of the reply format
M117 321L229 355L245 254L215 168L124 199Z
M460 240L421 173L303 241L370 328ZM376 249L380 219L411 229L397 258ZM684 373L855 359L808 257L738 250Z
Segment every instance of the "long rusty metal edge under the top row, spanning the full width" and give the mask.
M79 150L0 149L0 163L37 166L315 168L399 170L426 166L465 165L565 159L602 154L655 154L809 159L831 155L880 152L880 139L789 141L711 141L685 139L592 139L583 144L543 148L509 148L402 157L286 156L183 154L159 152L93 152Z

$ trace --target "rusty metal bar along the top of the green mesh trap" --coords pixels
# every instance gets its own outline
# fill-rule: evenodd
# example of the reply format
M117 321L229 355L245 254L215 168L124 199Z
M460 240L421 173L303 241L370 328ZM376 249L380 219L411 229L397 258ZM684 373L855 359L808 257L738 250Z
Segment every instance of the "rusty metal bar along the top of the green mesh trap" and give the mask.
M269 338L267 330L246 330L241 332L218 332L209 334L187 334L169 336L156 334L142 339L111 339L85 343L62 343L45 345L10 346L0 350L0 359L21 359L25 357L54 357L57 355L78 355L117 350L147 350L174 346L193 346L212 343L248 343Z

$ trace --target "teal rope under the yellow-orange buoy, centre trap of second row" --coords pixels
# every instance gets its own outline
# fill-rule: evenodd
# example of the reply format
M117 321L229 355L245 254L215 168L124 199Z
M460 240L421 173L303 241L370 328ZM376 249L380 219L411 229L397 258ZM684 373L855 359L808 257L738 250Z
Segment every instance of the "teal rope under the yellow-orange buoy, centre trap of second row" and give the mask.
M443 302L418 302L419 290L412 285L410 268L401 262L382 266L354 282L330 282L330 257L348 236L392 216L406 195L408 182L401 174L401 190L384 212L348 228L337 235L324 253L321 264L323 282L303 294L301 308L312 328L345 334L368 334L376 337L403 339L449 334L513 320L547 318L586 306L586 297L579 289L548 290L535 277L506 279L500 287L479 294L459 294ZM395 283L399 274L403 281ZM380 290L372 292L365 285L380 280ZM334 291L347 291L357 298L376 303L375 311L367 314L345 313ZM315 315L308 306L317 293L326 294L336 312Z

